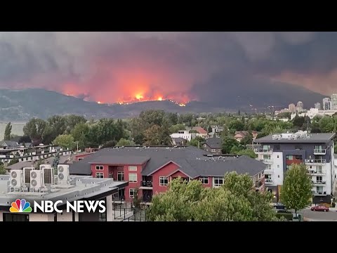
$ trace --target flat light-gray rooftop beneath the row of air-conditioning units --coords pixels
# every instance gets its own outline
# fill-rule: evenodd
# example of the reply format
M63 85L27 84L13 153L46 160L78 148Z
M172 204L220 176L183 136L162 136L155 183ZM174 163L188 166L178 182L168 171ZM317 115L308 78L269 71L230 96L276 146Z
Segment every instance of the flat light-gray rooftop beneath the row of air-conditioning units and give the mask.
M71 187L61 188L55 185L48 193L11 192L8 193L9 175L0 176L0 207L10 207L11 202L17 198L25 198L28 202L40 200L62 200L72 202L74 200L87 199L104 193L112 193L119 188L127 186L127 182L114 181L113 179L96 179L91 176L70 176Z

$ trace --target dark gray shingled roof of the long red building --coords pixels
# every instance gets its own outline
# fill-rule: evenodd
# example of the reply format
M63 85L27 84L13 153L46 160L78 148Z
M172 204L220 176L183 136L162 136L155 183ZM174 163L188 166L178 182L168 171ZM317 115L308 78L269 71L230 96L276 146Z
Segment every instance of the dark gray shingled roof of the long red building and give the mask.
M70 165L70 174L91 175L91 163L101 159L112 162L117 157L123 164L126 161L137 160L143 162L148 160L142 175L147 176L157 171L169 162L175 162L180 166L180 171L188 176L223 176L226 172L237 171L239 174L248 173L253 176L265 169L265 164L250 157L207 157L211 153L192 146L183 148L104 148L79 162ZM111 158L109 158L111 157ZM134 157L134 158L133 158ZM143 160L140 159L143 157ZM150 159L150 160L149 160ZM140 164L139 163L139 164ZM130 163L131 164L131 163ZM116 162L116 165L118 163Z

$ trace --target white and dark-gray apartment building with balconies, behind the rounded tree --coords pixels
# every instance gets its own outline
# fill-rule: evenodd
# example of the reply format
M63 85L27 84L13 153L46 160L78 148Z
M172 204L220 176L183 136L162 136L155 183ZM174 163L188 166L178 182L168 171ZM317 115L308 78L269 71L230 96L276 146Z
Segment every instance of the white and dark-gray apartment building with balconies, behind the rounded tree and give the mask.
M284 173L291 164L304 163L308 174L312 176L312 202L330 203L333 197L334 143L336 134L308 134L299 131L296 134L275 134L258 138L260 148L255 150L258 160L267 164L265 186L279 196Z

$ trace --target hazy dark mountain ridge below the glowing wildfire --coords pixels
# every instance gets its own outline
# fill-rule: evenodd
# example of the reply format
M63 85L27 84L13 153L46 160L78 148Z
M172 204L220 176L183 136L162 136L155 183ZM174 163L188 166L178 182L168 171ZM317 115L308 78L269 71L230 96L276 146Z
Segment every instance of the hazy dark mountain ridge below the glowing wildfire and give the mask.
M302 100L305 107L308 108L324 98L322 94L290 84L277 85L272 89L265 84L259 84L244 93L240 92L240 89L234 88L221 93L218 100L214 99L211 102L192 101L186 106L179 106L170 100L105 105L44 89L0 89L0 121L26 122L32 117L46 119L51 115L67 114L84 115L87 118L125 118L137 116L142 110L149 109L180 113L223 112L224 110L237 112L238 109L251 112L249 104L263 110L267 105L285 105L287 107L289 103L296 103L298 100Z

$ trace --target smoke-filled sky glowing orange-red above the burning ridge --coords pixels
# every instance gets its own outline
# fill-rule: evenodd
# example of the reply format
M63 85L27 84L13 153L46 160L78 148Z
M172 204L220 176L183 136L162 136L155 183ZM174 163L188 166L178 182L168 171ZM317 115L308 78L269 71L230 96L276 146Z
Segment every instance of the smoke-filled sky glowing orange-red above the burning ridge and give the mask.
M330 94L336 45L336 32L0 32L0 88L184 103L263 79Z

